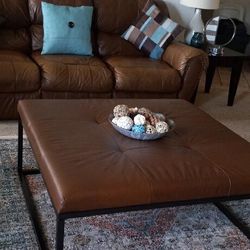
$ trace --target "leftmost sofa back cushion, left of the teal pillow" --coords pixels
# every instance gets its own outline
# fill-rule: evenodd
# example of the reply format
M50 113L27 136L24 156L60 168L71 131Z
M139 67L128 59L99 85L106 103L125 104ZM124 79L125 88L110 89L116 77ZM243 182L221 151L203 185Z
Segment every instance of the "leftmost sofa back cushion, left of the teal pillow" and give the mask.
M0 0L0 16L4 18L0 28L0 49L28 52L30 19L27 1Z

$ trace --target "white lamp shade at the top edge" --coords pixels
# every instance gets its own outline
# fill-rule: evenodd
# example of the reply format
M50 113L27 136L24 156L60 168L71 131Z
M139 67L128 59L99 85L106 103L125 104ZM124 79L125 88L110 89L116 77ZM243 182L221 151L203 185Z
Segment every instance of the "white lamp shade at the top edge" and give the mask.
M180 4L191 8L215 10L219 8L220 0L181 0Z

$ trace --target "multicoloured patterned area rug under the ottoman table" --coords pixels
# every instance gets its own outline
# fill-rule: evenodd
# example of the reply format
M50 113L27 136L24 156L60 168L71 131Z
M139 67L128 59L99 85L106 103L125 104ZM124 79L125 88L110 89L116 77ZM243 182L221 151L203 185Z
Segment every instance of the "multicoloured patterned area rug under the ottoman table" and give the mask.
M38 249L16 171L17 141L0 140L0 249ZM24 165L36 167L27 142ZM43 232L54 249L55 215L40 176L29 177ZM228 206L250 226L250 201ZM212 204L70 219L65 249L250 249Z

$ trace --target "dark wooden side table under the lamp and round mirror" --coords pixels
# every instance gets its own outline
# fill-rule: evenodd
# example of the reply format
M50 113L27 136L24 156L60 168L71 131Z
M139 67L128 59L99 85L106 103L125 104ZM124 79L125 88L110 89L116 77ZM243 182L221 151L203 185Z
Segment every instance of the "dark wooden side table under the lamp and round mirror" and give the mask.
M206 75L205 93L209 93L210 91L216 67L230 67L231 78L229 83L227 105L233 106L234 97L237 92L238 83L240 80L243 62L246 59L249 60L249 55L242 54L228 48L224 48L223 55L209 55L209 66Z

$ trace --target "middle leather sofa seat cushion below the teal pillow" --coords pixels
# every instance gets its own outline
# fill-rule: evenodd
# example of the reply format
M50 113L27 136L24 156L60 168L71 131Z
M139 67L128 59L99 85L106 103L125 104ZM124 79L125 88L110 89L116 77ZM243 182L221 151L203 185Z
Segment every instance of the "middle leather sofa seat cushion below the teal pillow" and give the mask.
M42 90L111 92L113 78L104 62L96 57L32 54L41 67Z

